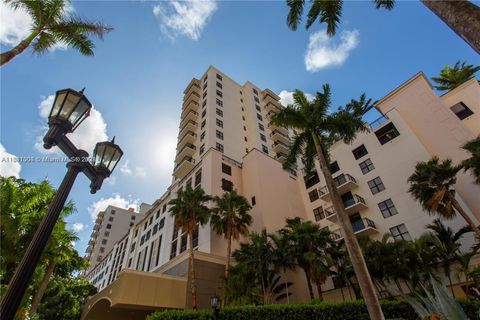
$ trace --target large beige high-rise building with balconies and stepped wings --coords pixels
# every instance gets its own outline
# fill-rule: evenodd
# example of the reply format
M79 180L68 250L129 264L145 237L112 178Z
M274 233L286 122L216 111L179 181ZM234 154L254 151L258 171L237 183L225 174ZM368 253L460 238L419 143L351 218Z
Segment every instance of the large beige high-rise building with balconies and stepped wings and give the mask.
M407 178L416 162L433 155L467 157L460 146L480 133L479 102L476 79L438 97L419 73L376 103L383 116L369 133L332 147L332 172L358 237L388 233L408 240L425 231L433 217L408 194ZM210 195L236 189L252 204L252 231L275 232L286 218L301 217L341 237L321 174L304 177L300 169L282 168L288 131L270 122L281 107L271 90L240 85L214 67L188 84L173 182L86 275L100 292L87 301L85 319L142 319L155 309L191 305L188 239L174 229L168 206L186 185ZM472 181L468 173L459 177L457 197L478 222L480 188ZM449 225L457 229L464 222ZM222 290L226 243L208 224L193 243L198 303L208 308L209 298ZM304 275L287 277L294 283L291 301L307 300ZM336 284L329 279L322 286L326 299L341 297Z

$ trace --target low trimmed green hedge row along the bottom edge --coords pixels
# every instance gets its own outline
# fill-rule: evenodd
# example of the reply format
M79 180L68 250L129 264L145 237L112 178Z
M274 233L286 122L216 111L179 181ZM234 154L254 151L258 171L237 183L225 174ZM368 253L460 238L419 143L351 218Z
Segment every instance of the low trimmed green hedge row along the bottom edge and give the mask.
M480 302L459 301L470 320L480 320ZM386 319L418 319L414 310L404 301L382 301ZM210 310L158 311L146 320L212 320ZM227 307L220 311L222 320L369 320L367 308L362 301L321 302L318 304L296 303L267 306Z

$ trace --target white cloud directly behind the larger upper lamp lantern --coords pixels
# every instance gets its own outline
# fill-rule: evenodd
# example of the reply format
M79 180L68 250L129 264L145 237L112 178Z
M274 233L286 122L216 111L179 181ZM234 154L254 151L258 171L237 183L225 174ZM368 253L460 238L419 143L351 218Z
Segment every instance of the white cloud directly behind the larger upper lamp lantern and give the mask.
M55 96L50 95L40 102L38 106L40 117L48 121L48 115L53 104ZM54 147L50 150L43 148L43 136L47 132L48 127L46 124L42 127L42 134L38 135L35 139L35 149L42 153L59 153L59 150ZM95 144L97 142L108 140L107 136L107 124L103 119L102 114L92 107L90 110L90 116L82 122L82 124L69 135L70 140L77 146L77 148L87 151L90 155L93 153Z

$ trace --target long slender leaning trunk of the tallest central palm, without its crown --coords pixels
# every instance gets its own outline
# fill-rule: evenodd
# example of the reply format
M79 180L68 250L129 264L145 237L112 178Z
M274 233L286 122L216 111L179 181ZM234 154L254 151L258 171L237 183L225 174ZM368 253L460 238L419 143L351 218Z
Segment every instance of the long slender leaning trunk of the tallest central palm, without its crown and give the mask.
M332 205L337 212L337 219L342 228L345 245L350 255L350 259L352 260L353 269L357 276L358 284L360 285L363 298L365 299L365 304L367 305L370 319L384 320L385 317L383 316L380 302L378 301L378 297L375 293L375 287L373 285L372 279L370 278L370 274L368 273L367 264L365 263L365 259L363 258L357 238L353 233L352 223L350 222L350 219L345 212L342 199L338 194L337 188L335 187L335 183L332 178L332 174L330 173L327 161L325 160L320 142L320 137L318 136L318 134L313 133L312 138L315 142L318 161L320 162L320 169L322 170L322 173L325 177L327 189L332 199Z

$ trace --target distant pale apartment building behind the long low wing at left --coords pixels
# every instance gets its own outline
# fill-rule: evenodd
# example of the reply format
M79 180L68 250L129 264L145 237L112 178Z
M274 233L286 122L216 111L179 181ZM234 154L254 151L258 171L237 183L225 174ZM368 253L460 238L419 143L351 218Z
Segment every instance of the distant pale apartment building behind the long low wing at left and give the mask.
M134 208L108 206L97 214L86 250L90 269L103 260L148 208L149 205L146 203L140 205L140 212L135 212Z

